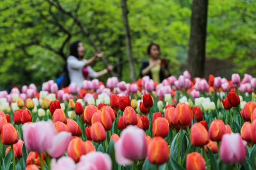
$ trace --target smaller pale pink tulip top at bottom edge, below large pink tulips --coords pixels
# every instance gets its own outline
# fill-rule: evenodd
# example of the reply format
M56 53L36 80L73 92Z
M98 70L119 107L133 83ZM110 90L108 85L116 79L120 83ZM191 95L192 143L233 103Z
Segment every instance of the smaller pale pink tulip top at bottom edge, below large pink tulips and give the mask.
M51 160L51 170L76 170L76 165L71 157L63 156L58 161Z

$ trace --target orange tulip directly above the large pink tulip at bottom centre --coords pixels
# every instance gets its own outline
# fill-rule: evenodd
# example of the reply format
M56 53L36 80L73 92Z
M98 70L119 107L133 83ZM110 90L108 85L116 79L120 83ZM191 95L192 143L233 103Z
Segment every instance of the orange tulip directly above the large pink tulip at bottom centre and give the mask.
M136 112L130 106L126 107L123 112L123 123L125 126L137 125L137 123L138 123Z

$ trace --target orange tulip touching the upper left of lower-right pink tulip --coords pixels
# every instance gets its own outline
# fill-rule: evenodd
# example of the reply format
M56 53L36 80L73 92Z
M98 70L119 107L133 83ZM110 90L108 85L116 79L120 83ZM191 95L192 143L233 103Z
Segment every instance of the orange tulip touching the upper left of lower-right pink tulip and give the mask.
M213 120L210 123L209 136L212 141L221 141L221 137L226 133L226 127L222 120Z

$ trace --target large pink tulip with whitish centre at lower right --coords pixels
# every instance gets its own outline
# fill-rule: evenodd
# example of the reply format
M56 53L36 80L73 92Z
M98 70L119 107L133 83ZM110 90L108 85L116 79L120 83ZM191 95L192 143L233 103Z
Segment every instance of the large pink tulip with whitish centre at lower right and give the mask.
M238 133L225 134L221 138L220 158L225 164L243 163L246 159L246 142Z

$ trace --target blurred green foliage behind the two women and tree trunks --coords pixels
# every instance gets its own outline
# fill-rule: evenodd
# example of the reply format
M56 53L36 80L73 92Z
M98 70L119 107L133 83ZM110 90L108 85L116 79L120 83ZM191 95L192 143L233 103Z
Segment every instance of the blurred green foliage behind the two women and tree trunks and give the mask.
M187 70L192 0L127 0L126 8L135 79L151 42L160 45L173 76ZM41 88L62 76L75 40L84 43L85 59L95 48L104 51L119 80L130 82L122 15L120 0L1 0L0 90L31 83ZM256 0L209 0L203 75L255 77L255 28ZM102 70L103 61L92 68Z

